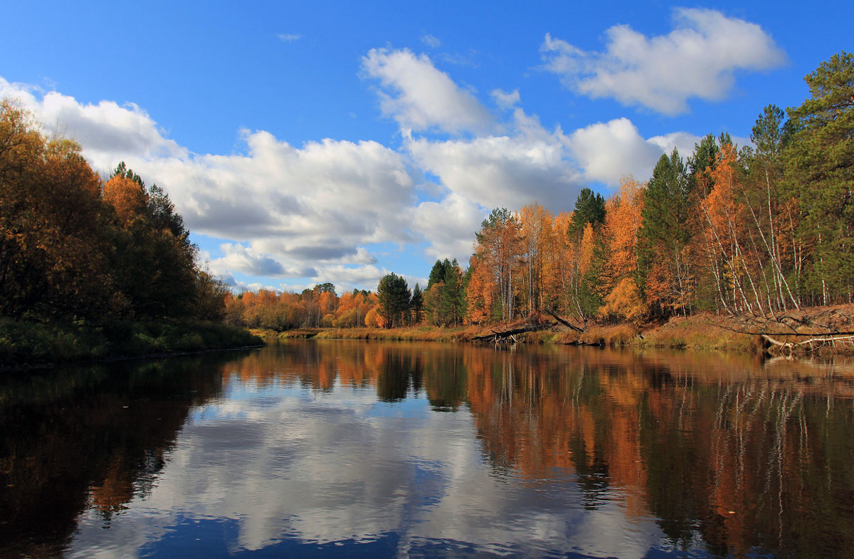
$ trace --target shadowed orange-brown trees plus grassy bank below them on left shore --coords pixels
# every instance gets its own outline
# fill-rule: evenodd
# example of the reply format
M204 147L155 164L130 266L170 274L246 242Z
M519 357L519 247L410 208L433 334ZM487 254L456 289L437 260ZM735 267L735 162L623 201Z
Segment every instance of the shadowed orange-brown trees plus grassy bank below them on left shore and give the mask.
M0 371L260 345L166 191L0 99Z

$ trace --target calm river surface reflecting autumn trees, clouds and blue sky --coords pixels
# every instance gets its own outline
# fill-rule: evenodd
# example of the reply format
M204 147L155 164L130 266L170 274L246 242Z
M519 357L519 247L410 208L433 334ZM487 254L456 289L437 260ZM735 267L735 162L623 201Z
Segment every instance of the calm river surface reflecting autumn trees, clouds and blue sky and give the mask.
M854 367L295 341L0 380L0 557L852 557Z

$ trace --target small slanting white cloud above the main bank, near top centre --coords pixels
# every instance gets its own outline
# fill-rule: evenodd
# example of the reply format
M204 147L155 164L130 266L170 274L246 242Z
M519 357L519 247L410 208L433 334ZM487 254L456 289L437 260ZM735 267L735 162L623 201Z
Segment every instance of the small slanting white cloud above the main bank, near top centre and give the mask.
M383 113L402 128L483 132L492 125L492 117L477 99L437 69L428 56L406 49L371 49L362 58L362 69L379 80Z

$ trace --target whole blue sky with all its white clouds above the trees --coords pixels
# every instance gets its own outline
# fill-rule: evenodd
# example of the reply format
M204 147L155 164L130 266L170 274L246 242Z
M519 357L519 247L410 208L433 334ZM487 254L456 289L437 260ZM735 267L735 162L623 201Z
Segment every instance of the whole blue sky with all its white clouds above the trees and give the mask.
M339 293L465 265L494 207L570 210L708 132L746 142L854 21L843 2L245 4L12 3L0 95L161 185L233 285Z

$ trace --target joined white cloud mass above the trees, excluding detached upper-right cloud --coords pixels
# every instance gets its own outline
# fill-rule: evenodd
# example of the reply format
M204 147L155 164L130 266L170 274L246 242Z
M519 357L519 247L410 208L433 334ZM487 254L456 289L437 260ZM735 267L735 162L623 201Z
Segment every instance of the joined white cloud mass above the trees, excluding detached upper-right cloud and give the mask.
M388 270L371 250L384 243L466 262L490 209L571 209L588 181L646 178L662 153L676 146L687 155L699 141L687 132L646 139L628 119L550 131L524 112L518 90L492 91L507 111L498 127L426 56L371 50L362 68L404 127L402 150L329 138L297 147L243 130L242 151L196 154L131 103L79 103L2 78L0 95L19 97L46 130L78 139L97 170L124 160L163 186L190 230L227 240L208 265L237 286L233 274L374 289ZM478 133L437 140L411 132L436 129Z

